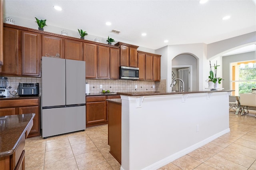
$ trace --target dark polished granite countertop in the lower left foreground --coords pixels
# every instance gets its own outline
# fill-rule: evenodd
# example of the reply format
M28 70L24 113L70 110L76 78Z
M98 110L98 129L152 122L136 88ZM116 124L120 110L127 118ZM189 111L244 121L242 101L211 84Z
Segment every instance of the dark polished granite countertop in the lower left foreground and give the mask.
M34 116L34 113L28 113L0 117L0 157L9 156L15 152Z

